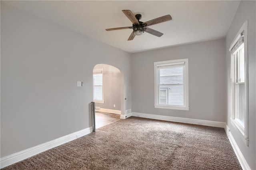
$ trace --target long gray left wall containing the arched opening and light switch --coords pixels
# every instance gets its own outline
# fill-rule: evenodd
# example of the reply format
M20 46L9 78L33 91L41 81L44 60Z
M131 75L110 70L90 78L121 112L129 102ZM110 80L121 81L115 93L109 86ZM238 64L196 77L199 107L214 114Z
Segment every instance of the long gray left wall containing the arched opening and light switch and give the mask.
M120 69L121 110L131 109L131 54L1 1L1 158L92 126L100 63Z

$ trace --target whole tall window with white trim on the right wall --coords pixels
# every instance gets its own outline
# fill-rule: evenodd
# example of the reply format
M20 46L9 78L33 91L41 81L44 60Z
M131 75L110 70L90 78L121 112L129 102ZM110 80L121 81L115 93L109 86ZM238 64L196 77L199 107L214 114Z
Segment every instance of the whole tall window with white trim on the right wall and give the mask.
M247 21L230 46L231 53L231 123L248 145L248 52Z

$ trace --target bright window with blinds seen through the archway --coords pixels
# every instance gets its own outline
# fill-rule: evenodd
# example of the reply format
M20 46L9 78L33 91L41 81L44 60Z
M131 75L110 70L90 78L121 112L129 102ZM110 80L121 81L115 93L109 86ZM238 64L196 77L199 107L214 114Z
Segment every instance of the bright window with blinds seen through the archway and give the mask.
M96 103L104 103L104 69L93 70L93 101Z

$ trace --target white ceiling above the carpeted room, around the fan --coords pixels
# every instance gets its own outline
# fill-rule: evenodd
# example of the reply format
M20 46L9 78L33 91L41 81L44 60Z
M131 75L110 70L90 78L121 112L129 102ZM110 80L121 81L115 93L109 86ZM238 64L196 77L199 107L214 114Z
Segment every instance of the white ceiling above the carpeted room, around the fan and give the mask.
M214 40L226 36L240 1L4 1L70 30L124 51L135 53L167 46ZM142 22L170 14L171 21L149 26L164 33L148 33L127 41L132 26L122 10L142 14Z

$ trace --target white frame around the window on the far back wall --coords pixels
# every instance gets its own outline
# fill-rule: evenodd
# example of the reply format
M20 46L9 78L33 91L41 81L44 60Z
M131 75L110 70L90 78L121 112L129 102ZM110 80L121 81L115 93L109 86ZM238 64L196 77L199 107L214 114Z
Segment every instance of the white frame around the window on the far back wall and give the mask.
M166 106L159 104L159 86L158 86L158 66L168 66L174 64L184 63L184 106ZM180 59L180 60L168 60L168 61L160 61L154 62L154 107L162 108L162 109L174 109L174 110L189 110L188 106L188 58Z

